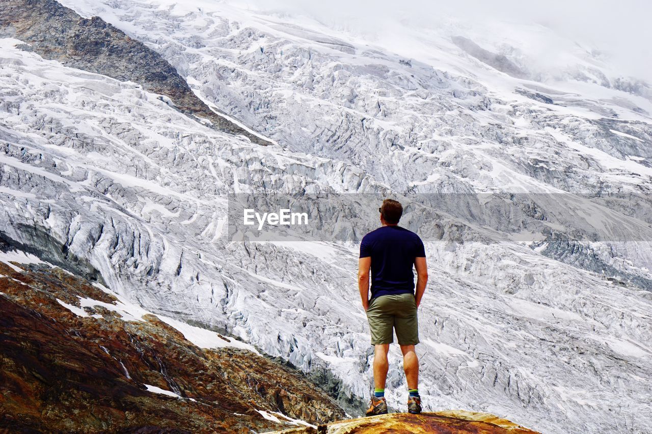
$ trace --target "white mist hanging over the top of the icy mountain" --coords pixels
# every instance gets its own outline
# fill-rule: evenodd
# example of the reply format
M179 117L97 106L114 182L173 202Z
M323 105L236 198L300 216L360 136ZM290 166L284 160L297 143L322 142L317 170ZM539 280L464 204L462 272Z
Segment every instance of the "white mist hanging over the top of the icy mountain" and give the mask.
M517 50L533 70L559 72L577 58L591 58L615 76L652 81L652 52L642 41L652 37L649 4L636 0L479 2L342 0L227 1L250 11L291 20L310 19L342 34L423 59L429 37L466 36L492 50ZM404 51L404 52L402 52Z

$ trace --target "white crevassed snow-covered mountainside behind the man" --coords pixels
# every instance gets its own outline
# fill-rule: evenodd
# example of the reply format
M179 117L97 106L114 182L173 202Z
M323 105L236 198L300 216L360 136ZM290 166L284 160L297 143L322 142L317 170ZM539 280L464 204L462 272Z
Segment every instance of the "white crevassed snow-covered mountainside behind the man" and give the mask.
M213 128L165 87L65 66L74 56L44 59L2 22L8 244L149 311L237 336L353 412L372 356L356 243L376 224L368 198L392 195L412 204L405 223L424 235L431 268L418 346L426 409L492 412L544 433L647 431L644 82L590 56L544 74L527 53L468 34L424 34L428 50L406 57L224 3L61 3L156 51L206 106L273 144ZM329 195L314 214L328 231L231 239L229 198L271 193ZM390 354L399 409L404 376L398 348Z

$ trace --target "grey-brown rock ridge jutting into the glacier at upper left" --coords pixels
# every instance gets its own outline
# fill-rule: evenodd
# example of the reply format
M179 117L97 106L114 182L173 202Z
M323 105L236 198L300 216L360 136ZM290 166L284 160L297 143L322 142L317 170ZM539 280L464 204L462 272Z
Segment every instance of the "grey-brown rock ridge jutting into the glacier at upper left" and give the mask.
M29 42L45 59L139 83L147 91L168 96L184 113L208 119L217 130L259 145L271 144L216 114L160 54L99 17L82 18L54 0L3 0L0 35Z

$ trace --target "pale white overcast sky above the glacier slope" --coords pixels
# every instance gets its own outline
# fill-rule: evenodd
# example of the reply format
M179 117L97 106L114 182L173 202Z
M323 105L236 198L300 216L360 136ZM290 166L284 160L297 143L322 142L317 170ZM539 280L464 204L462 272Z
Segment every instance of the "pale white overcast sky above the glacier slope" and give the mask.
M252 10L289 16L304 15L338 30L369 39L391 37L409 28L434 29L458 22L479 35L499 39L503 32L515 43L524 39L509 25L538 23L610 58L618 74L652 81L652 2L646 0L227 0ZM395 25L400 23L400 25ZM519 30L522 31L522 28ZM539 35L540 36L540 35ZM398 37L398 35L396 35ZM536 38L536 35L535 35ZM545 45L549 46L546 47ZM536 40L542 53L559 49L559 40ZM544 59L542 59L544 61Z

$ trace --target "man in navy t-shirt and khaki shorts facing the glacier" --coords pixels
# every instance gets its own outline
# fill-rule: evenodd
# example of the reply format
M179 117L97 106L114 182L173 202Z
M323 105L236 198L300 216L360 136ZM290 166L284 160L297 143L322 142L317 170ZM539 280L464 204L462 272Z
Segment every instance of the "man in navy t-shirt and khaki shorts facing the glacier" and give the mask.
M374 345L374 395L366 416L387 413L385 381L387 353L396 331L403 353L403 369L408 380L408 411L421 413L419 359L414 346L419 343L417 308L428 282L426 252L419 236L398 226L403 207L385 199L380 212L381 227L364 236L360 244L358 286ZM415 293L412 266L417 270ZM371 300L369 276L371 270Z

